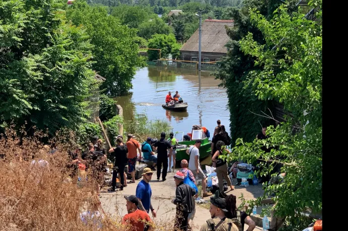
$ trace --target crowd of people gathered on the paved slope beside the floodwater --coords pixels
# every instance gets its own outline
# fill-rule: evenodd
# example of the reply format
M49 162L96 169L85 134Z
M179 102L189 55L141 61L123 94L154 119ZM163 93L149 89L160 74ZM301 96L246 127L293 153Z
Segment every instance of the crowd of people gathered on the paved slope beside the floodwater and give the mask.
M265 136L265 128L262 128L262 133L258 134L257 138L262 139L264 138L263 136ZM196 179L202 180L202 196L211 196L209 209L211 219L207 220L201 226L200 230L244 230L244 224L248 224L248 231L252 231L255 228L255 222L250 216L244 211L237 210L236 196L232 194L226 195L223 192L223 180L226 181L230 190L234 190L228 173L230 172L236 177L238 162L235 162L228 170L227 162L219 158L220 155L227 155L229 153L226 146L230 144L230 138L225 131L225 127L221 125L220 120L217 121L211 143L211 157L218 178L218 190L216 190L214 195L206 190L206 175L202 171L199 162L201 139L196 139L194 145L187 149L186 153L189 161L182 160L181 169L176 171L175 157L178 141L172 132L167 139L166 134L162 132L159 140L148 137L143 143L134 139L132 134L128 134L127 138L127 142L124 143L123 137L119 136L116 147L108 150L111 155L115 156L112 183L109 191L115 191L116 179L118 177L120 178L120 190L127 187L127 183L136 182L135 166L137 160L141 161L143 158L150 165L143 170L142 180L136 187L135 195L125 196L128 214L123 217L123 223L130 224L133 228L136 227L137 229L134 230L149 230L152 228L153 222L148 213L151 211L152 216L156 217L156 211L151 203L152 190L150 181L154 172L156 172L157 181L160 178L162 181L166 181L167 172L171 172L170 166L172 161L173 172L175 172L173 178L177 186L176 197L172 200L172 203L176 205L176 219L173 224L174 230L191 229L189 221L195 216L195 198L201 196L198 195ZM81 149L80 145L76 146L76 149L71 153L72 161L69 165L74 170L81 167L86 170L91 169L92 177L97 182L96 191L99 195L99 186L102 184L103 163L106 163L106 152L102 148L102 140L93 137L91 143L88 144L88 151L83 152L80 157ZM140 154L139 156L138 153ZM85 167L82 165L85 165ZM128 173L132 176L132 180L129 182L126 180L126 166L128 166Z

